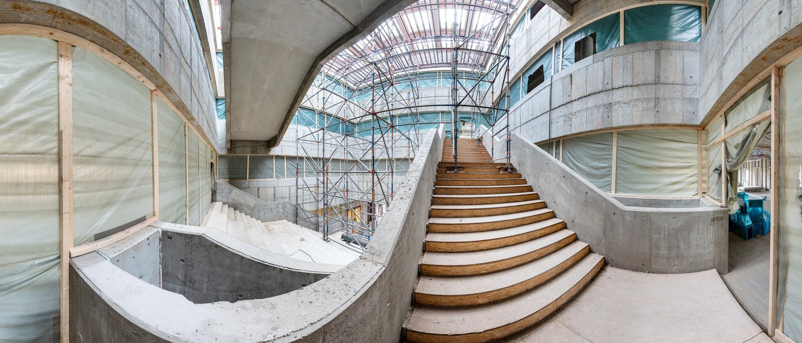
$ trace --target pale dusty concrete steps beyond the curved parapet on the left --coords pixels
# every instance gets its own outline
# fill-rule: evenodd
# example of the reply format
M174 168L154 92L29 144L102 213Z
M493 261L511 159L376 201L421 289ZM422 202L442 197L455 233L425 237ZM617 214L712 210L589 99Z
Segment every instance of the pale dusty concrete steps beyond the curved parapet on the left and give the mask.
M203 226L213 227L250 245L315 263L347 265L359 252L339 243L339 236L323 241L322 233L290 221L258 221L222 202L213 202Z

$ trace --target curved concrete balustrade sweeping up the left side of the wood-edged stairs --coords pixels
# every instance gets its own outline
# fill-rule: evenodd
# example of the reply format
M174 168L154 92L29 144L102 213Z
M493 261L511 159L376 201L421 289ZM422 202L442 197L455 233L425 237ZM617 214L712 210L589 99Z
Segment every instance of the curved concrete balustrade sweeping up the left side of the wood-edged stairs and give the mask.
M432 185L442 150L440 134L430 131L395 193L381 229L371 237L371 244L362 257L320 281L288 293L236 302L196 303L154 285L159 275L156 262L135 262L142 259L137 258L140 254L152 255L156 249L153 241L157 237L164 242L170 239L167 235L173 235L173 240L198 236L217 243L217 247L193 246L194 238L188 239L185 246L229 250L229 257L236 255L262 265L275 263L271 269L282 265L281 273L290 273L292 277L297 274L320 276L326 271L325 266L317 265L318 269L314 269L313 264L304 261L277 262L273 254L245 243L237 244L233 237L213 229L157 223L148 231L129 237L128 241L101 249L99 253L73 258L71 339L257 342L322 341L323 337L337 337L338 341L398 341L418 274ZM158 236L160 231L161 236ZM202 256L204 252L184 253ZM177 252L163 254L161 263L165 263L165 258L179 255ZM184 259L183 265L191 263L192 260ZM229 273L241 281L248 278L267 284L279 281L265 274L265 266L248 269L253 266L249 261L237 261L242 264L241 269L233 269L218 258L212 258L209 263L209 268L230 269ZM168 271L172 273L170 277L180 280L192 277L181 272L180 268L185 267L173 267L179 269ZM164 281L162 277L160 282L164 284ZM209 285L237 287L237 284L225 285L228 281L213 275L205 280ZM276 290L279 289L281 287ZM190 291L200 289L186 290Z

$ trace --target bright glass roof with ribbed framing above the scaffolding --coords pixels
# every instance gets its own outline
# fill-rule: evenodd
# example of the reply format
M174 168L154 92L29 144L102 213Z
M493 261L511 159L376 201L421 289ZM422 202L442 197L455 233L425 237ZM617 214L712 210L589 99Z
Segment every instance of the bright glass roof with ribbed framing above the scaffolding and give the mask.
M332 58L322 72L358 88L372 74L384 79L451 67L455 46L459 70L484 71L519 2L420 0Z

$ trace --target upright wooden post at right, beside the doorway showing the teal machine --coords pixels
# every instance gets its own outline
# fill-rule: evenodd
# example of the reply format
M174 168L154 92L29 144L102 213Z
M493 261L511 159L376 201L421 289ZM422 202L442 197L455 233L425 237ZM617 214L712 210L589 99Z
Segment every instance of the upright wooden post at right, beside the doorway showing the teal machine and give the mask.
M774 66L772 69L772 167L771 167L771 186L769 193L772 198L771 203L771 228L769 233L769 273L768 273L768 336L774 337L777 328L777 269L779 267L779 242L777 221L780 219L780 67ZM788 194L786 194L788 196Z

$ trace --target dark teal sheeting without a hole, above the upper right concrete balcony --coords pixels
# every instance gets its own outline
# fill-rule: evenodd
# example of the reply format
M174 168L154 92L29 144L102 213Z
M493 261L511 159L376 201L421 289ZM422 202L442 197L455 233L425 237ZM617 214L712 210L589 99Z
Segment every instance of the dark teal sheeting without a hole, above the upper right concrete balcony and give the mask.
M624 11L624 44L650 41L699 42L702 7L665 4Z

